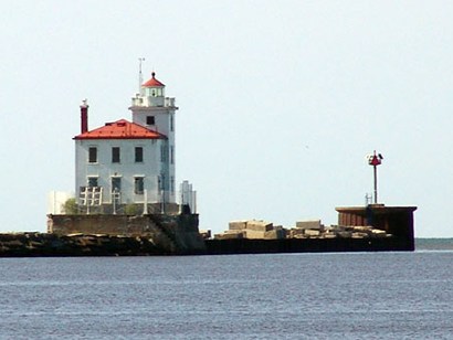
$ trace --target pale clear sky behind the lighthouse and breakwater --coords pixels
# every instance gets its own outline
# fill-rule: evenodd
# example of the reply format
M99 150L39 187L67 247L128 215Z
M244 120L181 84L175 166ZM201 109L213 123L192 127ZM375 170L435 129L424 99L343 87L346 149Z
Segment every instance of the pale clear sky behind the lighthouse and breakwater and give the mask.
M414 205L415 236L453 237L452 1L2 1L0 232L46 226L75 191L80 104L126 118L152 71L176 97L177 181L200 229L291 227L373 191Z

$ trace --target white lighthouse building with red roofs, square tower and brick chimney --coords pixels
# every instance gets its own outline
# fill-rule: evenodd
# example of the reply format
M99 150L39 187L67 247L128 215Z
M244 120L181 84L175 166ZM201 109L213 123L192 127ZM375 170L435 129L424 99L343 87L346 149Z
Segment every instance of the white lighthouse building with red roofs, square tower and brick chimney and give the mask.
M133 119L88 130L88 105L81 105L81 134L75 140L75 189L78 204L116 213L127 204L145 213L194 205L193 194L175 185L175 98L152 77L131 100ZM182 185L182 188L191 185ZM99 208L97 208L99 206ZM194 206L191 206L193 210ZM150 211L149 211L150 210Z

